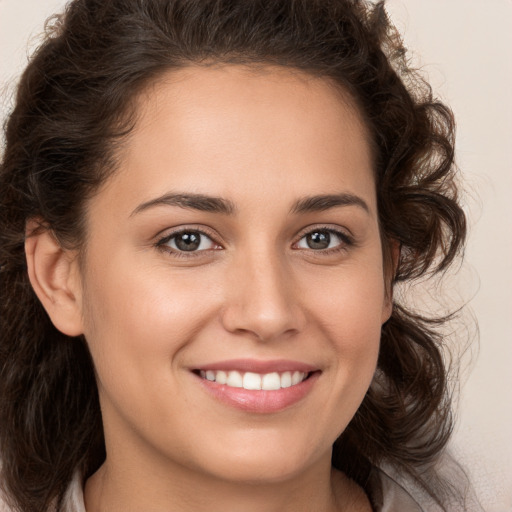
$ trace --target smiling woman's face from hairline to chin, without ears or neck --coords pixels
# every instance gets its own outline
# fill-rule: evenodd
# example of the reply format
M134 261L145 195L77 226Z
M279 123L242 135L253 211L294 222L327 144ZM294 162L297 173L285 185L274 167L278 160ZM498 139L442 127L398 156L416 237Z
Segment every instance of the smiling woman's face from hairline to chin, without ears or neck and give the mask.
M139 108L82 270L108 457L245 481L330 461L390 313L356 109L237 66L169 74Z

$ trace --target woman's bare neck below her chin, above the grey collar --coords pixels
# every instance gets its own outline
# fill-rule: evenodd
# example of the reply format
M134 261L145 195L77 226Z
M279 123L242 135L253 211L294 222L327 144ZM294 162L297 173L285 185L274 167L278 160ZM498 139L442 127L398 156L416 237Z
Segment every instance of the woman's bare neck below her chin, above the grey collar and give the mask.
M87 481L87 512L318 512L370 510L362 490L332 470L330 457L279 482L226 481L186 468L155 471L109 463Z

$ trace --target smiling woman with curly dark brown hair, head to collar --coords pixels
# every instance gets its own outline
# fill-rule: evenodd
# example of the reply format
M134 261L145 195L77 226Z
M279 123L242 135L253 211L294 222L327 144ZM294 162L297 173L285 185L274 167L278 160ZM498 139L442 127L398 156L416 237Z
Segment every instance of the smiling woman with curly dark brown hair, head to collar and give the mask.
M462 510L393 300L463 245L453 129L380 4L71 2L6 130L5 506Z

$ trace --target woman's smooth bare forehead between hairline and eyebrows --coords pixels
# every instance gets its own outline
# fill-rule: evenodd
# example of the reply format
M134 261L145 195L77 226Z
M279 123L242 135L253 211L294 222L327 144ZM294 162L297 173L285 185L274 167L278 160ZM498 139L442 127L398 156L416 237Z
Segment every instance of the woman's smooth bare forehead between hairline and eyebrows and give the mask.
M237 179L247 197L261 181L311 194L329 192L327 183L373 184L362 116L327 78L284 67L190 66L147 87L137 112L116 174L138 180L138 196L144 189L150 199L163 186L225 196Z

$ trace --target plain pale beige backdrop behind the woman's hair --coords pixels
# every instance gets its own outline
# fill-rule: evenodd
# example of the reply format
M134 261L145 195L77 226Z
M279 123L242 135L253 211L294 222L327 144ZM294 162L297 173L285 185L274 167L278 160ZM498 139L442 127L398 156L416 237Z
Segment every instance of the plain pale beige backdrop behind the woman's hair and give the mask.
M0 0L0 118L44 20L64 3ZM485 510L511 512L512 0L388 0L387 8L458 121L471 225L458 289L472 299L480 342L466 357L452 449Z

